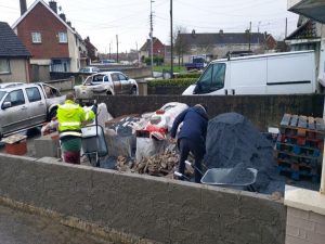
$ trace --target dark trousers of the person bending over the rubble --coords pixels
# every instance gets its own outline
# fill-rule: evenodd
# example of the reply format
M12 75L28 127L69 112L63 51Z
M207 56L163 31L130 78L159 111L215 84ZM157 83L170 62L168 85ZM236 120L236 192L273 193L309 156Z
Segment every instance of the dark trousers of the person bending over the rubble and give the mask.
M196 145L195 142L186 139L181 138L179 140L179 149L180 149L180 166L179 166L179 172L184 175L185 170L185 160L187 159L187 156L190 152L194 155L195 160L195 167L194 167L194 177L195 182L200 183L202 178L202 160L204 157L204 151L200 146Z

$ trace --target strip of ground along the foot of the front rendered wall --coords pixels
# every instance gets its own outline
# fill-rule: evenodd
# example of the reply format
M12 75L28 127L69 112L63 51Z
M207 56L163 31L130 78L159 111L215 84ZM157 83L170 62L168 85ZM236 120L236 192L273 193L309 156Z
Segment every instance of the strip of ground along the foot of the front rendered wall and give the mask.
M113 244L54 220L0 205L1 244Z

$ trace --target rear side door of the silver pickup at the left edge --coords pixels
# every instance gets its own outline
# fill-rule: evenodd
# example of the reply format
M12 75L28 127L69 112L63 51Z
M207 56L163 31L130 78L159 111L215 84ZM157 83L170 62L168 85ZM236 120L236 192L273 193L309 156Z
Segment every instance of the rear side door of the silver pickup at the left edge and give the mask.
M43 93L38 87L26 88L28 99L28 116L30 125L41 124L47 120L47 103Z

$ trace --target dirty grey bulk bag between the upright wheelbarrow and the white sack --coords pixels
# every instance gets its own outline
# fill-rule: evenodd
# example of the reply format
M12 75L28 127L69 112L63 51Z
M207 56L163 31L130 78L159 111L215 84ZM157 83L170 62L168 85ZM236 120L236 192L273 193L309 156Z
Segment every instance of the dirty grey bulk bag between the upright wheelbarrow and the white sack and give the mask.
M108 149L109 156L125 156L132 157L132 152L135 151L135 136L130 134L127 137L120 137L116 133L112 133L114 130L105 130L105 140Z

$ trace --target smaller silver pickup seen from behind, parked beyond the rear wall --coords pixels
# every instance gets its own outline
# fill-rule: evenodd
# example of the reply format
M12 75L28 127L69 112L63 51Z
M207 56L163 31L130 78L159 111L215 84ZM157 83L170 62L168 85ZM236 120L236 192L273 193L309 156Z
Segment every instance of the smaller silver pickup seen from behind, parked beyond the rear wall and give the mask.
M93 94L138 94L138 84L121 72L102 72L74 87L77 99L92 99Z

